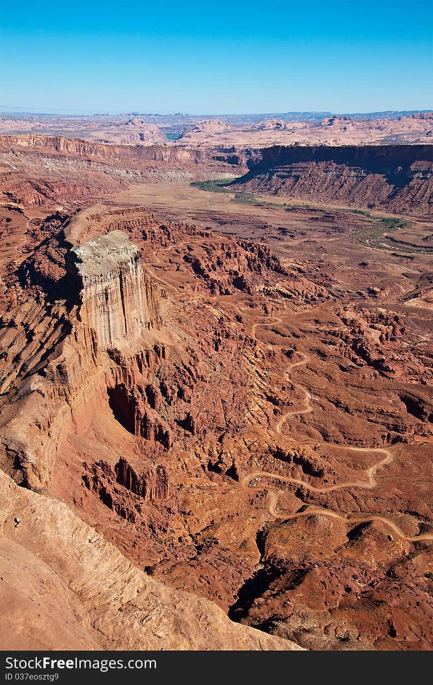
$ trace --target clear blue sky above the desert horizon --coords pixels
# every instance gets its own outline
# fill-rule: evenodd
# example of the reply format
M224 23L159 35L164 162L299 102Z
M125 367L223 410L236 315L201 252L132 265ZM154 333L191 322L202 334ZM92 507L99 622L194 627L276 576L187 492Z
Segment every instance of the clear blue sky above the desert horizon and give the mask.
M431 0L0 0L0 107L433 108Z

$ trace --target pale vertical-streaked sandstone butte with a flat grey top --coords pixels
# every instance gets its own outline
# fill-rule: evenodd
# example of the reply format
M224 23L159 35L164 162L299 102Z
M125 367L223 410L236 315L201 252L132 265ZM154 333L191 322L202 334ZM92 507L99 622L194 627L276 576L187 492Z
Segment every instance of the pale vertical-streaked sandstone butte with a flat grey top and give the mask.
M144 327L159 325L157 286L142 269L140 250L124 233L111 231L75 247L68 264L79 285L79 316L101 349L121 340L133 343Z

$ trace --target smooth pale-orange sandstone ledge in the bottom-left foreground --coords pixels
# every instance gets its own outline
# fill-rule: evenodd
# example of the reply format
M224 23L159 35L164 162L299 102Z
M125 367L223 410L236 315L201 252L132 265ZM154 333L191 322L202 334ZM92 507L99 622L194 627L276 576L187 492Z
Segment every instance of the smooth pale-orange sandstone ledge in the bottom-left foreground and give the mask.
M1 471L0 495L2 649L300 649L163 586L66 504Z

